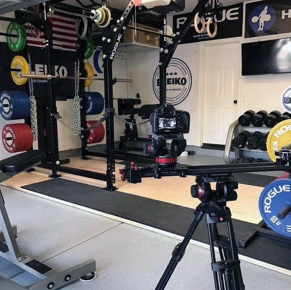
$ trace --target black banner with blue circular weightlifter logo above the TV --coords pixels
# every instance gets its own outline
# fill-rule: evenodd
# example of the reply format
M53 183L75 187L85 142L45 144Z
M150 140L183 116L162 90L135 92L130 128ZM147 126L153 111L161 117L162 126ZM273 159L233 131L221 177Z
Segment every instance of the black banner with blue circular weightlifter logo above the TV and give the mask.
M245 38L290 32L290 0L263 0L246 4Z

